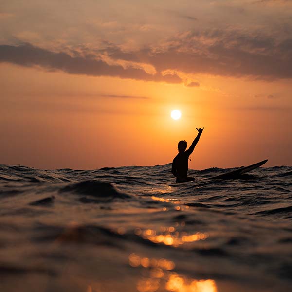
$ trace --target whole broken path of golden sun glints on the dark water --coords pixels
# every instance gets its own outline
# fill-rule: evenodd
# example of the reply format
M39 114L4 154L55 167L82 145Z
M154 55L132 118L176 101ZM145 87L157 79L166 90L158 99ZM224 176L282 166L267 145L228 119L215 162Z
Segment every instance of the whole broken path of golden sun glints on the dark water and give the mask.
M188 206L178 206L178 201L164 199L152 196L152 200L176 204L174 209L188 209ZM166 210L166 208L164 207ZM164 210L164 211L165 211ZM159 231L153 229L136 228L135 234L150 240L154 243L161 243L178 247L187 242L205 240L209 237L207 233L197 232L188 234L179 232L177 228L184 226L185 222L176 222L174 226L162 226ZM164 258L155 259L139 256L137 254L129 255L129 265L132 267L142 267L148 269L148 276L143 277L137 282L139 292L173 291L173 292L218 292L214 280L197 280L191 279L174 272L175 263Z

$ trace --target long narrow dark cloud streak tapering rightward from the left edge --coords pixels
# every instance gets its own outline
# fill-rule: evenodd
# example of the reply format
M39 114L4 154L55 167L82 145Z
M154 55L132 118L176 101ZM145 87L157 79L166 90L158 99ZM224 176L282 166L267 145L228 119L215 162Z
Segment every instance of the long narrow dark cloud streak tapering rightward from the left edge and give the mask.
M134 67L123 68L120 65L109 65L93 55L70 56L66 53L55 53L30 44L20 46L0 45L0 62L9 62L21 66L41 66L48 70L61 70L71 74L86 74L93 76L113 76L145 81L163 81L181 83L176 74L146 73L143 69Z

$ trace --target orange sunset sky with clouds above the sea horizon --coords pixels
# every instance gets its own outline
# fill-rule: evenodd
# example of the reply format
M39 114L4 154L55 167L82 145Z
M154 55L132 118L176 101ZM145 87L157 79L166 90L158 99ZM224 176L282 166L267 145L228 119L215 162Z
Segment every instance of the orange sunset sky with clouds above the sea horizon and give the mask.
M0 2L0 163L292 165L291 0ZM171 119L172 110L181 119Z

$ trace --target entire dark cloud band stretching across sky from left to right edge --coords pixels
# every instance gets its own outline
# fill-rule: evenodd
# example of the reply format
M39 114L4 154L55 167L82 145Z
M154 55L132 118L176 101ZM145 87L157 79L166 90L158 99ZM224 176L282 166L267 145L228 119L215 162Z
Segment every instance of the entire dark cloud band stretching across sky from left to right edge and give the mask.
M48 70L73 74L116 76L145 81L181 83L176 72L212 74L274 80L292 78L292 38L278 40L264 34L249 34L236 30L188 32L165 40L156 47L126 51L109 44L105 49L85 55L54 53L32 45L0 46L0 61L23 66L38 65ZM145 63L155 68L155 74L143 69L109 65L99 55L113 60ZM174 72L163 74L163 72ZM192 83L191 83L192 84ZM197 86L196 82L189 86Z

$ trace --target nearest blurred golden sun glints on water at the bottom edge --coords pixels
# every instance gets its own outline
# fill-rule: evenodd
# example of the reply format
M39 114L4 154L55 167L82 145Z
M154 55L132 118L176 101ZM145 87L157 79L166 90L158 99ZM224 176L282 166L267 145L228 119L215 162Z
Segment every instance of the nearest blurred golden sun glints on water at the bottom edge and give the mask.
M173 291L173 292L218 292L214 280L196 280L176 273L175 264L165 258L155 259L130 254L129 265L145 268L148 274L137 281L139 292ZM165 289L165 290L163 290Z

